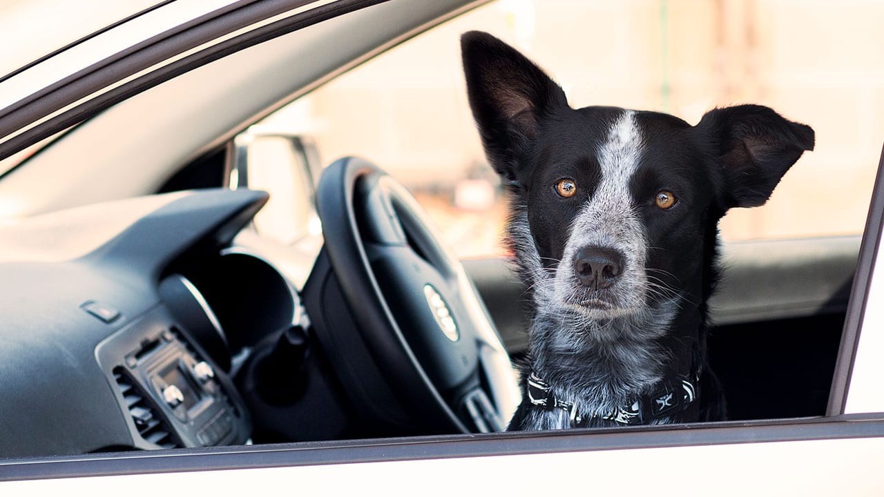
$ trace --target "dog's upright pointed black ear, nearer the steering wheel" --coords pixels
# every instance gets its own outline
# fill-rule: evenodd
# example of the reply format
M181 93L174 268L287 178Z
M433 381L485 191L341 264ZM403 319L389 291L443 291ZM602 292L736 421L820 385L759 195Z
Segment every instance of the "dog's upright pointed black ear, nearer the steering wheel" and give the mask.
M568 106L565 92L513 47L491 34L461 36L469 106L485 155L505 179L515 182L519 157L537 136L542 120Z

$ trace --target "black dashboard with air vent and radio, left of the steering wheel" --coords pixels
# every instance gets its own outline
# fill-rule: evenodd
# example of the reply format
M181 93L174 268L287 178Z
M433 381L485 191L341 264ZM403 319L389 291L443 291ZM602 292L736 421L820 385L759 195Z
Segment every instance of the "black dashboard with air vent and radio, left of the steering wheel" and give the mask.
M223 259L266 200L193 191L0 226L0 457L247 442L227 335L179 270ZM283 320L296 305L253 296Z

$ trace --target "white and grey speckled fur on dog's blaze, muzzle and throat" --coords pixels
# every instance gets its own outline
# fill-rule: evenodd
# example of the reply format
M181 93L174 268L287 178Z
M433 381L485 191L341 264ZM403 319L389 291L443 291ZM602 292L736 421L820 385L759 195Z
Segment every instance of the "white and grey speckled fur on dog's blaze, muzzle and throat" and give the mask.
M644 264L648 251L644 224L629 180L636 172L642 137L632 111L625 111L598 150L602 178L571 226L562 262L546 269L530 233L524 206L516 206L510 236L522 274L529 282L535 315L530 329L532 367L552 386L552 394L575 401L584 415L604 416L643 393L660 379L667 357L654 339L667 333L678 296L649 304ZM579 286L570 261L587 245L613 248L624 256L613 310L578 305ZM531 409L523 430L567 428L561 409Z

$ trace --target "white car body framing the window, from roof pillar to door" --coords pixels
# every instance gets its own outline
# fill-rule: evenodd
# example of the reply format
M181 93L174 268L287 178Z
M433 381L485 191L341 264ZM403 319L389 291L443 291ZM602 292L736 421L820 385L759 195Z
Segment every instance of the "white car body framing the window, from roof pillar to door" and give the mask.
M298 16L310 22L313 11L356 3L279 2L286 8L278 12L272 11L271 6L278 5L271 2L249 4L161 4L0 80L0 109L13 109L0 110L0 157L103 110L0 181L0 216L24 218L150 195L176 165L229 139L278 103L471 6L463 0L392 0L372 11L326 19L313 30L245 50L237 47L208 65L194 62L192 70L153 86L156 74L185 67L182 61L187 57L196 61L237 36L248 38L255 30ZM232 8L255 19L237 26L229 13ZM222 19L231 28L218 28L212 31L213 39L182 50L159 43L151 49L162 54L163 60L156 63L126 52L193 19ZM174 44L175 39L169 40ZM311 57L317 50L324 57ZM136 60L128 66L132 71L116 73L103 65L121 53L123 62ZM13 60L0 71L9 73L16 65L19 62ZM272 77L286 68L290 79ZM80 89L70 80L72 74L83 78ZM88 80L93 76L103 83ZM63 84L52 95L69 98L46 98L42 103L38 99L16 107L57 81ZM139 87L152 88L140 93ZM127 99L109 107L123 96ZM174 102L174 112L166 111L169 102ZM141 129L151 130L149 136L137 133L114 143L102 141L108 130L125 127L136 116ZM180 133L182 129L188 133ZM145 149L143 143L163 146ZM134 150L140 152L133 154ZM64 166L71 162L77 166ZM40 178L46 175L61 180L44 184ZM882 252L884 180L879 178L873 195L826 417L0 459L0 493L880 494L884 276L874 269Z

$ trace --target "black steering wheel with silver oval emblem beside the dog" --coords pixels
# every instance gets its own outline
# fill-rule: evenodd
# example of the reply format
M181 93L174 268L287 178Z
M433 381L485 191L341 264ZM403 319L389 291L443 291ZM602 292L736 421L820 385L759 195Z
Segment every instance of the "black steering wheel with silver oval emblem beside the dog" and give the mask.
M319 338L339 371L348 370L348 389L385 403L370 371L356 370L367 363L423 431L506 429L520 398L512 363L415 197L377 166L345 157L323 172L316 203L324 251L355 322Z

